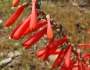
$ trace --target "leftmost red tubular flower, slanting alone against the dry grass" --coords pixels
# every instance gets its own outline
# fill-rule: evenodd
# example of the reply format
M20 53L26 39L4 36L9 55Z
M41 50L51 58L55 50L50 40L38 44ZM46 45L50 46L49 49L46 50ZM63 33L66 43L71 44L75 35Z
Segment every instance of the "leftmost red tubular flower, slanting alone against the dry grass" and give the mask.
M24 5L20 6L14 13L13 15L6 21L5 26L9 27L11 26L20 16L22 11L24 10Z

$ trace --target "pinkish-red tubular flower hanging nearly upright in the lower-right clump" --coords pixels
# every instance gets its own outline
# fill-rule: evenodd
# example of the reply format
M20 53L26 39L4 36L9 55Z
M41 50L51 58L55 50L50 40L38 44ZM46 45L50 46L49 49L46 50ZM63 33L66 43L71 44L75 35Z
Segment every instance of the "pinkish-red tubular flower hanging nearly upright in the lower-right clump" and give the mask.
M71 52L72 52L72 49L73 49L73 46L70 45L67 53L66 53L66 57L65 57L65 60L64 60L64 66L65 67L69 67L70 66L70 59L71 59Z

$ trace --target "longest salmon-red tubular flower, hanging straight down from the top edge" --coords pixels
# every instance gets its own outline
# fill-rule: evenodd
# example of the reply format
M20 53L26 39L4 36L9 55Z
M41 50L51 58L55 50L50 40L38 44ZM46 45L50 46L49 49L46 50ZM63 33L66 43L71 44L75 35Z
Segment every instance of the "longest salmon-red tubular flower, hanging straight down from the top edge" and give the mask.
M36 11L36 0L32 0L32 13L31 13L31 21L30 21L30 30L36 30L38 24L37 11Z

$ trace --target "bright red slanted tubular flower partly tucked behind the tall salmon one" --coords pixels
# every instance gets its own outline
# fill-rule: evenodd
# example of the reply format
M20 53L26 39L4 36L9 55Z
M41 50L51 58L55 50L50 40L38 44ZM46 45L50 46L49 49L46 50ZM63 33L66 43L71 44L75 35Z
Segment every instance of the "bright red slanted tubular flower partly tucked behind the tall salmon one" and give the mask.
M13 35L13 39L20 39L22 37L22 35L24 34L24 32L27 30L27 28L29 27L29 22L30 22L30 17L29 16L24 22L23 24L17 29L17 31L14 33Z

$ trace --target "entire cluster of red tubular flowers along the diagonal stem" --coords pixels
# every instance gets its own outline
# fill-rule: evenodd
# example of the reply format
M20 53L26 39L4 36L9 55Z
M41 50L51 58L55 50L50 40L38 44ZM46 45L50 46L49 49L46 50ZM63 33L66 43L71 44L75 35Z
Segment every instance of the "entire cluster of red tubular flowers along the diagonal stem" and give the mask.
M18 6L20 0L13 0L12 5L14 7ZM28 50L33 44L35 44L41 37L47 35L49 43L44 49L36 53L36 57L41 57L43 61L47 60L50 55L58 55L52 68L60 66L60 70L85 70L90 67L88 66L90 54L84 56L81 55L80 50L76 50L75 47L69 42L69 39L64 35L63 31L57 29L57 25L53 23L49 15L46 15L45 20L39 21L38 16L40 15L36 9L36 0L32 0L32 11L31 14L17 25L17 27L12 31L10 37L15 40L19 40L23 36L26 36L34 31L39 30L33 36L28 38L25 42L22 43L22 46ZM21 5L13 15L6 21L5 26L10 27L15 23L20 14L25 9L26 4ZM47 24L47 27L43 27ZM62 34L62 38L54 40L53 27L56 26L57 32ZM78 44L78 46L87 46L90 44Z

